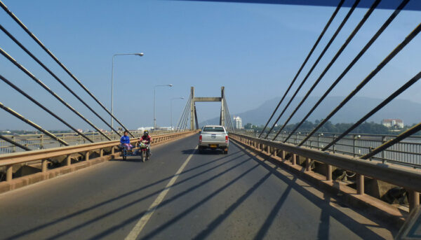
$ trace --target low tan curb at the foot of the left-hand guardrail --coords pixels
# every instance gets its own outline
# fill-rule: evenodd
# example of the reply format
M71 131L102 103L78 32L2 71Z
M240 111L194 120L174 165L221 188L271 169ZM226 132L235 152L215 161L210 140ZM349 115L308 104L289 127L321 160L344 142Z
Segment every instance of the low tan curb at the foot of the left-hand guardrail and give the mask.
M186 134L185 136L182 136L177 139L168 139L166 141L159 141L157 143L153 143L152 146L158 146L163 145L165 143L171 143L172 141L184 139L187 136L192 136L196 134L196 132L192 132L191 134ZM18 188L25 187L27 185L32 185L34 183L39 183L41 181L46 181L48 179L56 178L58 176L62 176L65 174L70 174L74 171L85 169L87 167L91 167L96 164L100 164L102 162L107 162L109 160L116 159L120 156L120 153L114 153L110 155L105 155L102 157L95 157L93 159L90 159L88 161L78 162L75 164L72 164L70 166L65 167L58 167L57 169L51 169L46 172L39 172L36 174L31 174L27 176L22 176L20 178L14 178L12 181L4 181L0 182L0 194L4 192L9 192L11 190L15 190Z

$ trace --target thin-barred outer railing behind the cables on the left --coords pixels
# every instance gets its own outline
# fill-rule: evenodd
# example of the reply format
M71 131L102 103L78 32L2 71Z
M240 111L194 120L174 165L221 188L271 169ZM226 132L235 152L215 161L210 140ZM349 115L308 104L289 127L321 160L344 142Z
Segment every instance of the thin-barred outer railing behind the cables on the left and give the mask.
M154 136L160 135L160 134L171 134L174 132L175 131L169 131L169 130L149 131L149 133L154 134ZM113 139L113 140L120 139L120 136L116 134L115 132L104 132L104 133L107 136L109 136L110 139ZM139 137L139 136L142 136L143 132L132 130L131 133L133 134L133 136ZM91 139L94 142L107 141L107 139L105 139L105 136L102 136L102 134L98 132L83 132L83 134L85 134L85 136L87 136L89 139ZM121 132L121 135L123 135L123 132ZM61 143L59 143L58 141L55 141L54 139L51 139L51 137L45 134L19 134L19 135L6 134L4 136L32 150L58 148L62 146ZM89 143L86 139L84 139L81 135L79 135L76 132L55 133L55 136L69 143L72 146ZM12 145L11 143L8 143L7 141L0 140L0 154L18 153L18 152L23 152L23 151L25 150L20 149Z

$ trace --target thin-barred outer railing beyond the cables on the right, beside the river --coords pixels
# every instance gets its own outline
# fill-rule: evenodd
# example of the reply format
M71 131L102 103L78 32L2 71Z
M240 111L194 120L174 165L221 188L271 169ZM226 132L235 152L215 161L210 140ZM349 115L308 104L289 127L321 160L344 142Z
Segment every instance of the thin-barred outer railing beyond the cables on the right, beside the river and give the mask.
M236 131L238 132L238 131ZM239 131L238 133L256 136L255 132ZM262 136L266 136L267 133ZM276 141L284 141L290 132L283 132L276 137ZM297 132L290 136L287 143L298 144L307 136L307 132ZM311 136L303 146L321 149L328 143L332 142L333 139L338 137L338 133L316 133ZM269 134L268 139L273 139L274 134ZM389 139L394 139L395 135L380 135L380 134L348 134L343 139L340 139L337 143L333 144L328 150L332 153L343 153L352 155L354 157L366 155L370 153L370 150L377 148ZM410 167L421 168L421 136L411 136L404 141L396 143L387 150L377 153L372 157L373 160L380 160L383 163L394 162L398 164L407 165Z

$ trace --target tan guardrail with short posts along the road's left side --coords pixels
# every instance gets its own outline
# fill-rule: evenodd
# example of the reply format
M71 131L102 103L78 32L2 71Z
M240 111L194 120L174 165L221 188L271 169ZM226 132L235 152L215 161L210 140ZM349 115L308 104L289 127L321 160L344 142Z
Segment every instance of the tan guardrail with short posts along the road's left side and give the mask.
M156 143L162 143L164 141L170 141L173 139L178 139L180 137L192 134L195 131L189 132L178 132L172 134L159 134L152 135L152 146ZM136 141L133 139L132 141ZM48 160L52 157L66 157L66 164L64 167L69 167L72 162L72 155L79 153L83 155L85 161L89 161L90 153L93 151L99 151L99 157L105 155L105 150L109 152L109 155L114 154L116 146L119 146L120 141L104 141L98 143L88 143L78 146L65 146L60 148L48 148L44 150L31 150L25 151L22 153L9 153L0 155L0 168L6 168L6 182L13 180L13 166L17 164L28 164L41 161L41 172L46 173L48 171ZM60 168L58 168L60 169Z

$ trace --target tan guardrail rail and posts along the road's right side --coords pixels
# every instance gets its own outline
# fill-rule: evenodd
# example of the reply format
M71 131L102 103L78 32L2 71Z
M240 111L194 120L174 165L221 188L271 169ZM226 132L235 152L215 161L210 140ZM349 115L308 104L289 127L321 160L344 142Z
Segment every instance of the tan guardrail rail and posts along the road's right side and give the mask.
M291 143L280 143L243 134L229 133L229 136L250 148L265 151L274 156L280 154L282 160L286 160L286 154L290 153L292 155L290 161L293 165L297 164L299 156L305 157L305 171L311 171L312 161L321 162L326 167L327 181L332 181L332 166L352 171L357 174L356 192L359 195L364 194L364 176L368 176L408 190L410 209L420 205L421 171L417 169L377 160L361 160L349 155L322 152L314 148L298 147Z

